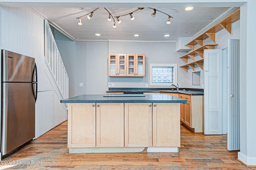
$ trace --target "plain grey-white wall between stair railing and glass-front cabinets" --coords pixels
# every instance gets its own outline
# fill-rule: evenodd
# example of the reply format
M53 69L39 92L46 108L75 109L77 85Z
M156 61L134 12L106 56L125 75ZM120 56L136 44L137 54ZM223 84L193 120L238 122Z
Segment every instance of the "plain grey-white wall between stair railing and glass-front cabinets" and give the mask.
M56 34L56 43L69 75L69 97L106 94L108 42L72 42L60 36Z

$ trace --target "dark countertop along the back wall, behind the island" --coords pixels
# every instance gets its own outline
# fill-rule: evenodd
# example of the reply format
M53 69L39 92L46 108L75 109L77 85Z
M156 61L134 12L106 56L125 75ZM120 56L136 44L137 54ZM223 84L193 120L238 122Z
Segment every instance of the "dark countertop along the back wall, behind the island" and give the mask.
M181 90L176 91L176 88L109 88L107 93L182 93L187 95L204 95L204 89L189 89L180 88ZM185 89L185 91L183 91Z

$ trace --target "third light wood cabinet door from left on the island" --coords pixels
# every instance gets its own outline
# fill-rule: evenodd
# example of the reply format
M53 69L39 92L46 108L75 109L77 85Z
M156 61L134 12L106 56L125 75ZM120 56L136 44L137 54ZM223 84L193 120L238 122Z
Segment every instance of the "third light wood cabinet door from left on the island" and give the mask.
M124 146L152 146L152 103L124 103Z

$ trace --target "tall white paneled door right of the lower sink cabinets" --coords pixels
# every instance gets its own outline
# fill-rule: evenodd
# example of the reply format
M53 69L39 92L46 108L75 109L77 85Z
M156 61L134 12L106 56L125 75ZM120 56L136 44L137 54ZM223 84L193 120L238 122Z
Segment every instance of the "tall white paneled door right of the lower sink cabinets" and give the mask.
M204 50L204 134L222 134L222 50Z

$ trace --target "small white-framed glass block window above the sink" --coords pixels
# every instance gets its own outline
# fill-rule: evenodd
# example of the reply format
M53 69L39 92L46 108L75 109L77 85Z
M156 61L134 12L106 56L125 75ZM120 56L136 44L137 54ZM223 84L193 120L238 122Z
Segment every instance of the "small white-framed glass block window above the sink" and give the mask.
M177 82L177 64L150 64L150 86L170 86Z

